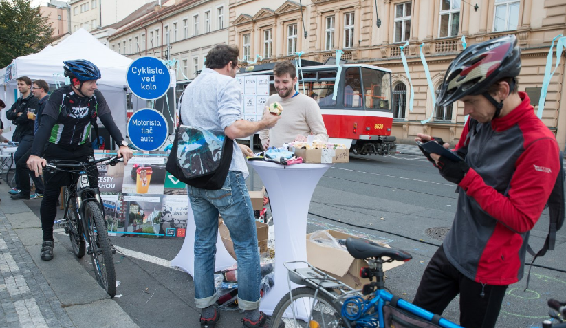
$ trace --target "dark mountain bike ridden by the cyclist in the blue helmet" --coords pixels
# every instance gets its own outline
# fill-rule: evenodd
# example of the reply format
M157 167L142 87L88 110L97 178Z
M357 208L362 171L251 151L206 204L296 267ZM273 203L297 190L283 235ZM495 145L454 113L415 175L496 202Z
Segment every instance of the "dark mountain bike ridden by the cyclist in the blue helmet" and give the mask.
M72 182L65 188L65 215L63 226L69 234L74 254L80 259L85 253L91 256L94 276L98 284L114 297L116 295L116 272L113 250L108 237L104 207L98 187L90 187L88 173L96 170L97 164L114 166L122 162L116 156L71 162L54 160L45 165L45 171L72 173Z

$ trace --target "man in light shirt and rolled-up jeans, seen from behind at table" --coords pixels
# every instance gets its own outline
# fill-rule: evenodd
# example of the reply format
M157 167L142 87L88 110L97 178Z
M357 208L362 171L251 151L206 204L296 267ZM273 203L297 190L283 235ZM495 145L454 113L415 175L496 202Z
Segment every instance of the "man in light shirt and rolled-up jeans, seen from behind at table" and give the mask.
M235 80L239 49L217 45L206 56L206 69L188 85L181 100L183 124L222 132L234 140L274 127L280 116L267 109L259 122L243 120L240 88ZM238 305L245 310L243 327L268 327L267 316L259 311L259 252L252 202L244 179L248 167L242 152L234 147L230 171L219 190L188 186L188 197L195 217L195 303L202 309L201 327L215 327L219 311L214 285L214 264L218 215L230 230L238 263Z

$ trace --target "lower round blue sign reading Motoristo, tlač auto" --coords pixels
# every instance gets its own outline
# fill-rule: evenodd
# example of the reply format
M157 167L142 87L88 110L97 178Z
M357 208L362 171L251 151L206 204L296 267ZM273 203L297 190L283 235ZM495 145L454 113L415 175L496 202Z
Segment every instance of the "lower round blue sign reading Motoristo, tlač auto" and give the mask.
M142 151L155 151L166 142L167 120L162 113L151 108L143 108L131 116L127 133L130 142Z

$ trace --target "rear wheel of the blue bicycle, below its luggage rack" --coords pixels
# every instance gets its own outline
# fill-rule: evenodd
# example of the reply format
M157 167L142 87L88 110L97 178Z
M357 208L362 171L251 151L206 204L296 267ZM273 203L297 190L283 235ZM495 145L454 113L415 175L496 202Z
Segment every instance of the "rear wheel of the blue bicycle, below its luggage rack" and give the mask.
M316 321L320 328L342 328L342 305L334 302L324 294L309 287L293 289L293 301L287 293L275 307L271 317L270 327L274 328L308 328L309 320ZM312 327L316 327L313 325Z

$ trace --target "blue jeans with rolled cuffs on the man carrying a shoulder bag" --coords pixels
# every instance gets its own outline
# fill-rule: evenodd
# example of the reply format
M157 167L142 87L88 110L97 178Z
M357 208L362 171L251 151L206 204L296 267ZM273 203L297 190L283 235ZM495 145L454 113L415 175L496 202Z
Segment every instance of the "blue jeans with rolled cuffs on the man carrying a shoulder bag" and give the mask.
M206 190L188 186L195 217L195 303L204 309L218 299L214 286L218 215L230 231L238 258L238 305L240 309L259 307L259 250L252 201L239 171L229 171L224 186Z

